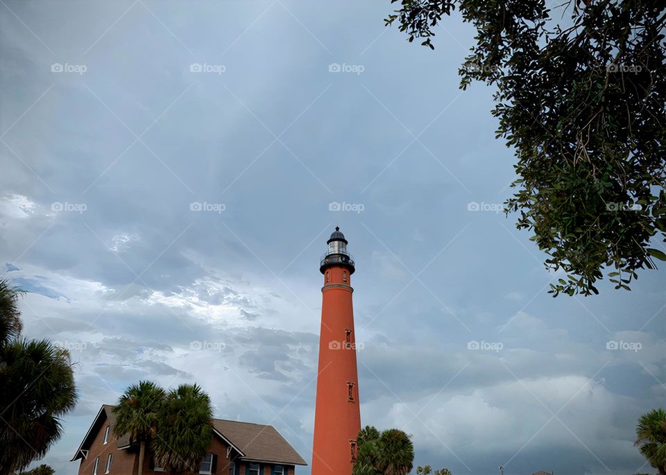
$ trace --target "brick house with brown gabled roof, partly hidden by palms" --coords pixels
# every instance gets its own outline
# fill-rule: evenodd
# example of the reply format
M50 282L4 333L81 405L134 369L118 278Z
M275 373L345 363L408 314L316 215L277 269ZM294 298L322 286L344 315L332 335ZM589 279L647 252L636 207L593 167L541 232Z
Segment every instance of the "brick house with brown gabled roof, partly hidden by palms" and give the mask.
M116 439L112 408L104 404L88 429L74 458L78 475L136 475L139 447L127 436ZM307 465L273 426L213 419L213 438L199 474L294 475L296 465ZM150 448L144 456L144 475L160 474Z

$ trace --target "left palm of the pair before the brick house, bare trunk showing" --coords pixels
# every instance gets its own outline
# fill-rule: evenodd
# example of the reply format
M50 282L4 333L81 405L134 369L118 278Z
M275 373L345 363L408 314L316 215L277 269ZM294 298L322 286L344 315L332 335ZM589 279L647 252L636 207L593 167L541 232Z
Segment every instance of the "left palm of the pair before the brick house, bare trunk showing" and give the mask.
M112 428L117 438L128 434L130 440L139 442L139 475L143 474L146 444L155 438L159 415L164 407L166 394L153 381L139 381L130 386L113 408L116 424Z

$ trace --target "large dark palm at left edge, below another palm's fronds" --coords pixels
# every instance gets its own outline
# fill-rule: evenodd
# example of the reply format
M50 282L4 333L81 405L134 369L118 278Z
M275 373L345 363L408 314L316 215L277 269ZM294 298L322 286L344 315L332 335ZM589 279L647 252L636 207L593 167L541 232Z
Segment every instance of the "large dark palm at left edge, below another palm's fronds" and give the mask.
M0 346L0 474L46 455L62 435L60 416L76 404L69 352L49 340Z

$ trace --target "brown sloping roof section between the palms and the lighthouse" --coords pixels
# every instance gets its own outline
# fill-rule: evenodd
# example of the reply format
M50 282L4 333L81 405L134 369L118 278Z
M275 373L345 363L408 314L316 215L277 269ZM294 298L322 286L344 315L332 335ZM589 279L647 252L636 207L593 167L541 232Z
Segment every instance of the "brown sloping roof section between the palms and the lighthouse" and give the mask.
M241 452L244 460L307 465L273 426L214 419L213 427Z

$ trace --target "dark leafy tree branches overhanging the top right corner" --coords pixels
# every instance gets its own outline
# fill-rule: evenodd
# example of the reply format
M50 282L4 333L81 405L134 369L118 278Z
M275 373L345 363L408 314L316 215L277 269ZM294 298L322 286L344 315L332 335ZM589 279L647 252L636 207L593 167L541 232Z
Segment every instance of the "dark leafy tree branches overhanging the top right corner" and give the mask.
M666 260L666 4L400 0L385 21L434 49L456 8L477 30L460 87L496 88L497 138L518 159L506 211L565 272L549 292L598 293L604 277L629 290Z

